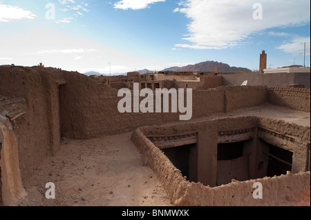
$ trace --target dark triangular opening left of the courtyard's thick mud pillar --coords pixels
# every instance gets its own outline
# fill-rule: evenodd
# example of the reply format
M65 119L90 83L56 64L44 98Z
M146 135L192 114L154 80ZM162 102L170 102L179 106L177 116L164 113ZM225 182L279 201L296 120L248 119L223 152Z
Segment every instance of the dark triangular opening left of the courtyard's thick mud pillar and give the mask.
M167 148L162 150L169 158L173 166L176 166L181 172L183 177L187 177L189 181L197 181L196 174L196 143L176 148Z

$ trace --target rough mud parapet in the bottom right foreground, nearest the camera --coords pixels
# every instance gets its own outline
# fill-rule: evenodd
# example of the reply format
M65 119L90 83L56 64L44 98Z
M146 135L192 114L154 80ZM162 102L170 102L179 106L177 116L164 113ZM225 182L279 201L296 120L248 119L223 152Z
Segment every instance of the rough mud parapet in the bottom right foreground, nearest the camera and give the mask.
M263 199L254 199L254 183L261 183ZM306 206L310 204L310 172L232 181L216 188L191 183L184 190L176 206Z

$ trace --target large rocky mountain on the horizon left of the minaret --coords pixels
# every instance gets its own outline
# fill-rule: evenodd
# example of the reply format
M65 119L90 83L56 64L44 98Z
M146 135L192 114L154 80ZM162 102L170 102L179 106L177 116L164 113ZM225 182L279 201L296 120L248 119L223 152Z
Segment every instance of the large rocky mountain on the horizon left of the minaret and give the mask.
M214 72L214 67L218 67L218 72L252 72L247 68L241 67L231 67L227 63L218 63L215 61L205 61L202 63L196 63L194 65L188 65L183 67L174 66L171 68L166 68L162 71L193 71L193 72Z

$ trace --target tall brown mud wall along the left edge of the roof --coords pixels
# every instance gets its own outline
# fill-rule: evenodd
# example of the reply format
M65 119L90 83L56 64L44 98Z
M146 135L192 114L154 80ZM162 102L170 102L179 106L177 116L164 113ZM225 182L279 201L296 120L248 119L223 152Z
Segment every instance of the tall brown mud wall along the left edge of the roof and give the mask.
M0 67L0 94L26 99L26 114L15 120L21 178L59 149L57 98L53 72L42 68Z

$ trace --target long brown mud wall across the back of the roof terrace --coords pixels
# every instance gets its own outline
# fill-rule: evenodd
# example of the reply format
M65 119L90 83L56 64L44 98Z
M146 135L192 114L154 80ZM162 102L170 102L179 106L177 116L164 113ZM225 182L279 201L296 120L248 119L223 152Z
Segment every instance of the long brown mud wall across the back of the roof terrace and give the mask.
M79 83L81 84L81 83ZM179 121L180 113L120 113L117 103L122 97L107 95L100 88L89 90L68 81L61 90L62 132L74 139L89 139L103 134L130 132L140 126ZM194 90L192 119L237 108L260 106L267 99L267 89L254 87L219 87ZM76 120L79 119L79 120Z

